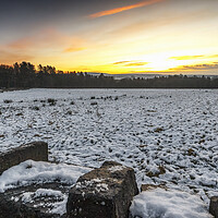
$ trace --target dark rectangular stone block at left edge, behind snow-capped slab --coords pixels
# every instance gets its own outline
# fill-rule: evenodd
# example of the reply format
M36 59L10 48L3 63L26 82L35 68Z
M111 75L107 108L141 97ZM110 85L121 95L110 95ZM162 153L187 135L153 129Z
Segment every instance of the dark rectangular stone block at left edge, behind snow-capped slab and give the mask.
M48 161L48 144L34 142L0 153L0 174L25 160Z

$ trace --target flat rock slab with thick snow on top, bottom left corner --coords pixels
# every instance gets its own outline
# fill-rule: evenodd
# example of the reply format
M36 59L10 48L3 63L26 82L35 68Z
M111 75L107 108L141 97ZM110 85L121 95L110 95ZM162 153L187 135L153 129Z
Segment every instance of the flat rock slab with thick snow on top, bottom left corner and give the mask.
M62 218L69 191L90 168L26 160L0 175L0 218Z

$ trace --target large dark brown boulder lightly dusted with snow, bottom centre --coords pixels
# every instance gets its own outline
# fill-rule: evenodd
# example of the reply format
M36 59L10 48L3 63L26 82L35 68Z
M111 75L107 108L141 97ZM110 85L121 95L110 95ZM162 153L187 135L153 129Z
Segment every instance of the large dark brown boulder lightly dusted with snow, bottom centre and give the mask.
M106 161L99 169L82 175L70 191L68 218L128 218L136 194L134 170Z

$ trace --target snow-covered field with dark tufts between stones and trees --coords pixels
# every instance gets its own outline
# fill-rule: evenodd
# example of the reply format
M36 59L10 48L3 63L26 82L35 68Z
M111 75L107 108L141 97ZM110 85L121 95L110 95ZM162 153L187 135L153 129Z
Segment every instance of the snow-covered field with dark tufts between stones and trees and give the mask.
M50 160L116 160L135 169L138 185L197 193L207 205L218 194L218 90L0 93L0 149L33 141L48 142Z

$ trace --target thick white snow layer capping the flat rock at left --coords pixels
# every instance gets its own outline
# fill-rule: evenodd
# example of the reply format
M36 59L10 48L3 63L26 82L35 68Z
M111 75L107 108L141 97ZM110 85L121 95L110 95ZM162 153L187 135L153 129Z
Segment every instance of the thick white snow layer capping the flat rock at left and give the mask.
M65 164L49 164L26 160L14 166L0 175L0 192L34 183L43 184L58 181L72 185L76 180L90 171L90 168L70 166Z

